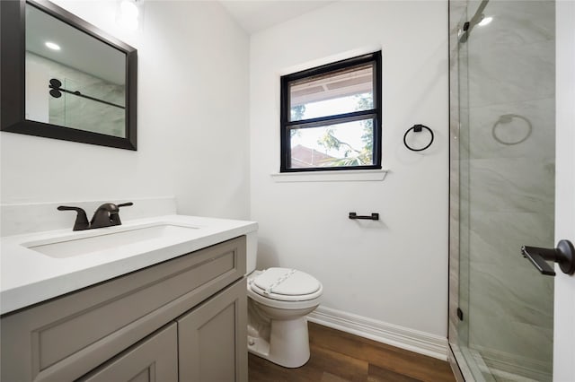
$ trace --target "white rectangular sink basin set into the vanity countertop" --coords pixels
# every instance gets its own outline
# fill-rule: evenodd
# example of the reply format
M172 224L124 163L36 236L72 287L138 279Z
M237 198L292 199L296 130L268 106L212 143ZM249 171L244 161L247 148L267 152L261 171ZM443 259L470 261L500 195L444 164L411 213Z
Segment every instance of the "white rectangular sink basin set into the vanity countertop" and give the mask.
M30 242L23 243L22 245L50 257L65 258L86 255L93 252L102 252L111 248L143 243L148 240L185 239L189 237L190 233L197 229L197 227L162 223L146 227L127 228L126 230L120 231L107 231L96 236L68 236L57 238L49 242ZM95 231L93 232L96 233Z

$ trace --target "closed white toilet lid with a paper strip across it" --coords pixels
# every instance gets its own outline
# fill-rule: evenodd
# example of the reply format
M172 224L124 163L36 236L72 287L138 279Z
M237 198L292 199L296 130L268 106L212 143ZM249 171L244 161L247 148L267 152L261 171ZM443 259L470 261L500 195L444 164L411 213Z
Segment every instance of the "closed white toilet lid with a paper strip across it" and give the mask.
M322 284L314 276L290 268L269 268L252 282L252 291L281 300L295 300L299 296L314 294L321 288Z

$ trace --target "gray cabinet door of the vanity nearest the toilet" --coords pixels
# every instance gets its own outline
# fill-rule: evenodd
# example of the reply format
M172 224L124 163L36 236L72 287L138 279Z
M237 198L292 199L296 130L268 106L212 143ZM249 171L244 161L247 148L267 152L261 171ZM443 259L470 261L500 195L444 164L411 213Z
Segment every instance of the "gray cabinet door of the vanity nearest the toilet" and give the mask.
M181 382L247 382L245 278L178 321Z

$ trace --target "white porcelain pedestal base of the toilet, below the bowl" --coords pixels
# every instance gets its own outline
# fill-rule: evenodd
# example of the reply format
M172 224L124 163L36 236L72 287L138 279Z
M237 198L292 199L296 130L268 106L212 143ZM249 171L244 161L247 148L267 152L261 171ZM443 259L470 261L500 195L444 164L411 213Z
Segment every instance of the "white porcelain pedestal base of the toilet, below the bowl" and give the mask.
M271 320L270 341L248 335L248 352L284 368L299 368L309 360L307 319Z

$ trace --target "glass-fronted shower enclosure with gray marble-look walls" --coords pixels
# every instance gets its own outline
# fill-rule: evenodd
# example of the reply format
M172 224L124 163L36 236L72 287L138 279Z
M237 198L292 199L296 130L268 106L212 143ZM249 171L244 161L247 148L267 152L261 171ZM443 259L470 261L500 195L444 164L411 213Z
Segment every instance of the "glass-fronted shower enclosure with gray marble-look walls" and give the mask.
M450 358L465 380L550 381L553 1L449 2Z

